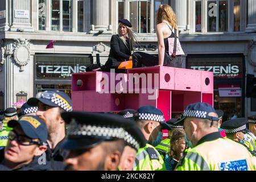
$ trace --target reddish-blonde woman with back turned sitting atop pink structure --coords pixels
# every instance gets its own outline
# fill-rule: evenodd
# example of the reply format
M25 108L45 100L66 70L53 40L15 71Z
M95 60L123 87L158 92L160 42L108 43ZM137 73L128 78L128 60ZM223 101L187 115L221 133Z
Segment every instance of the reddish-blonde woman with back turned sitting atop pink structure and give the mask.
M177 19L169 5L160 5L156 13L156 35L158 55L144 52L133 53L133 68L156 65L175 67L175 59L184 54L178 36Z

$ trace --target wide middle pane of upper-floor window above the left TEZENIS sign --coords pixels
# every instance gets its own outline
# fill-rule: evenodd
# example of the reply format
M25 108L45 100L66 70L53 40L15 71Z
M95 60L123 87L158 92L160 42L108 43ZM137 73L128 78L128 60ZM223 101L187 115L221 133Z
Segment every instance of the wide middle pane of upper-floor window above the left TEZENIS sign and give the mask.
M72 31L71 0L52 0L52 30Z

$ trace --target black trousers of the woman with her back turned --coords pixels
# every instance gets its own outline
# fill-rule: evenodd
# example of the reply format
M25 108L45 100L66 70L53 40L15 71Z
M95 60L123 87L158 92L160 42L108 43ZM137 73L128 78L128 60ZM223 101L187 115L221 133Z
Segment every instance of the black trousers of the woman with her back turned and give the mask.
M158 65L158 55L150 55L144 52L134 52L133 53L133 68L140 67L154 67ZM175 67L174 58L168 55L167 52L164 53L164 64L165 67Z

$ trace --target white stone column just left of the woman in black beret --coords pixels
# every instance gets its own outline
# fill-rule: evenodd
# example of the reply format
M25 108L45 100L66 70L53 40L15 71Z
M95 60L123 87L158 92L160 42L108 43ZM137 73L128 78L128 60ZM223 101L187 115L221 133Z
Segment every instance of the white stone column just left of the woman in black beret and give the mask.
M93 24L91 33L109 33L109 0L93 1Z

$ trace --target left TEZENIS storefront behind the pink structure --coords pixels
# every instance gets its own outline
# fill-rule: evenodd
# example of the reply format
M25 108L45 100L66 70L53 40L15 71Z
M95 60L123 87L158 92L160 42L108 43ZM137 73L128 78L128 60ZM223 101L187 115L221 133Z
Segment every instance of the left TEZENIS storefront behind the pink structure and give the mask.
M61 90L71 96L72 73L85 72L92 64L91 55L36 54L35 90Z

